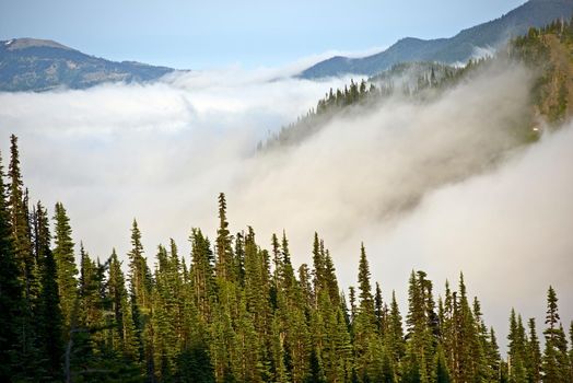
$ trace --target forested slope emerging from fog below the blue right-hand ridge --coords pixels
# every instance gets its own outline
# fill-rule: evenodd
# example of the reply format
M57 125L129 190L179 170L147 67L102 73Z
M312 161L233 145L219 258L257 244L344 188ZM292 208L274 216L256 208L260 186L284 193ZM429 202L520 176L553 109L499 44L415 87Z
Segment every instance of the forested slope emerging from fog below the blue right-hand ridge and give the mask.
M556 20L511 40L493 56L469 60L464 67L438 62L404 62L360 82L325 94L296 121L260 142L259 150L292 146L324 128L334 117L364 113L393 96L431 102L453 86L471 81L494 66L523 65L535 76L528 124L523 142L535 141L541 127L556 128L573 114L573 20Z

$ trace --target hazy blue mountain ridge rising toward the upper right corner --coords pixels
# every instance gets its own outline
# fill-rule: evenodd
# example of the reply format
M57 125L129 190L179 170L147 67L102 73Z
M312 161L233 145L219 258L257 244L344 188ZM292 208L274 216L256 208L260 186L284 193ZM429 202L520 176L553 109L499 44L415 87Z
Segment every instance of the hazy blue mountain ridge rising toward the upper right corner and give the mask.
M524 35L556 19L573 15L572 0L530 0L500 19L464 30L452 38L402 38L388 49L363 58L336 56L304 70L299 77L316 79L356 73L374 76L395 63L408 61L465 62L478 48L491 48L512 36Z

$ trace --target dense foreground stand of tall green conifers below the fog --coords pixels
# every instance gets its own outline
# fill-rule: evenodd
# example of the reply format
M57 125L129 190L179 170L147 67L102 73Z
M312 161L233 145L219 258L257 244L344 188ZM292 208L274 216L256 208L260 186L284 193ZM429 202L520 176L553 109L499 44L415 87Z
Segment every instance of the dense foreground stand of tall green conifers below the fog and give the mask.
M0 171L2 179L3 170ZM127 276L115 251L94 260L57 204L30 208L17 140L0 183L2 382L573 382L573 349L549 288L541 351L536 322L512 311L500 355L463 275L436 299L412 271L408 312L371 280L364 246L344 294L317 234L312 265L291 262L286 235L262 248L252 228L232 235L225 196L211 242L192 229L190 263L175 242L149 267L131 229ZM526 329L527 327L527 329ZM573 322L569 344L573 344Z

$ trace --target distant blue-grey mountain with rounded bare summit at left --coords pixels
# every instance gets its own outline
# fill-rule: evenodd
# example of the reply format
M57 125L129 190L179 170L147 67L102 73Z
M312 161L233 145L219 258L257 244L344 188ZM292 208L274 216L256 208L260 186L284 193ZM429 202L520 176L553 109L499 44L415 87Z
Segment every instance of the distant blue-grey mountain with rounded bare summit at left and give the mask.
M0 91L85 89L104 82L147 82L174 69L109 61L59 43L35 38L0 42Z

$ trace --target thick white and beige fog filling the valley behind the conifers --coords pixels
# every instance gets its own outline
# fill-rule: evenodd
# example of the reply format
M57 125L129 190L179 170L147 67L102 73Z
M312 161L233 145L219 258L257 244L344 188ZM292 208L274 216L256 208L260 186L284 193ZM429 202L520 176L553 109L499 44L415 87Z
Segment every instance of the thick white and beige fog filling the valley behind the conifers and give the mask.
M295 147L255 152L348 82L230 69L0 93L0 149L5 165L9 135L20 137L32 198L62 201L94 257L115 246L125 258L137 218L150 265L169 237L188 259L190 229L214 235L224 192L232 231L253 225L268 246L285 230L296 265L311 262L317 231L343 287L355 283L364 241L373 278L385 298L396 289L402 307L412 269L426 270L438 292L463 270L501 345L512 306L541 320L550 283L569 321L573 127L516 148L530 74L495 68L434 101L391 98Z

